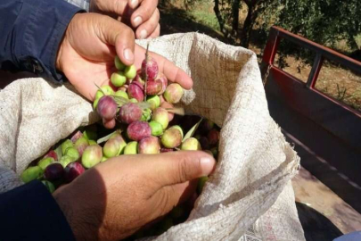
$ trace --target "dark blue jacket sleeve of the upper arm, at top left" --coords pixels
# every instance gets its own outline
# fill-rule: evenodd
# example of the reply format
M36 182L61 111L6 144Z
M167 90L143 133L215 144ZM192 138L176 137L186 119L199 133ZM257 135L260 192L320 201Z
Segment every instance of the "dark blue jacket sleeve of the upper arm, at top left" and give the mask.
M61 82L56 55L77 12L84 11L63 0L1 0L0 69Z

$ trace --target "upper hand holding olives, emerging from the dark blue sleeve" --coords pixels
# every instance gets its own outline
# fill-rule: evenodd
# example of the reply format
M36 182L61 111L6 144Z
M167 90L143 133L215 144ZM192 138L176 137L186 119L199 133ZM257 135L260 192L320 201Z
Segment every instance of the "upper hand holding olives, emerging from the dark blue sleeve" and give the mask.
M140 69L145 49L135 45L134 32L125 24L98 13L78 13L70 21L62 40L56 67L62 71L78 92L93 101L97 87L111 84L115 55L127 65ZM159 54L150 53L158 62L159 71L168 80L185 89L193 86L192 79L172 62Z

